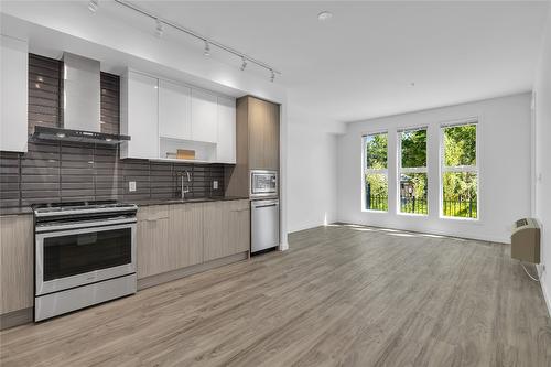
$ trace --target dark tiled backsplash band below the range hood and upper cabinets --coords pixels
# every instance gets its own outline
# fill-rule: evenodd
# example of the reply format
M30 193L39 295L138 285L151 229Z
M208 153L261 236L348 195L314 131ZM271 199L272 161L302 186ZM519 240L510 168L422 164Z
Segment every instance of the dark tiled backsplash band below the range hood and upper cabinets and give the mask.
M177 197L177 172L192 179L188 197L224 195L224 165L120 160L118 148L82 143L29 143L25 154L0 153L0 206L118 199L140 202ZM218 190L212 190L213 181ZM136 192L129 192L129 182Z

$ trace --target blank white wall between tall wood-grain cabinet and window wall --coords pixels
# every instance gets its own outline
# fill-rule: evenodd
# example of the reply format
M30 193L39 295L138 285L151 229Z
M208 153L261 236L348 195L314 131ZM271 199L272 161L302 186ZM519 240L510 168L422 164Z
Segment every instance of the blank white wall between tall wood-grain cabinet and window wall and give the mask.
M314 126L290 123L288 230L335 222L337 138Z

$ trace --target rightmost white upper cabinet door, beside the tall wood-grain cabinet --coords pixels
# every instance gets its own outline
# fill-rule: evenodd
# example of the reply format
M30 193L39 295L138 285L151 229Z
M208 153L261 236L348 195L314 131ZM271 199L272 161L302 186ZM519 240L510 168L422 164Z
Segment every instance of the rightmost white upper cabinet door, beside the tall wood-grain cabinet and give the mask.
M218 142L216 161L236 163L236 100L218 97Z

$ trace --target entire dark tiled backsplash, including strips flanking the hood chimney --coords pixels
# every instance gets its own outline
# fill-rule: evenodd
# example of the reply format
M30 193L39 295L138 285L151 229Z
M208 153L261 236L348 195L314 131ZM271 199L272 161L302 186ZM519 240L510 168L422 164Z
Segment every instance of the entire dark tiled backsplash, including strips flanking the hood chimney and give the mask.
M61 62L29 55L29 132L58 127ZM119 77L101 73L101 131L119 132ZM179 195L179 172L192 179L188 197L223 196L223 164L120 160L118 147L75 142L29 142L24 154L0 152L0 207L35 203L118 199L137 202ZM129 192L134 181L136 192ZM218 190L213 190L218 181Z

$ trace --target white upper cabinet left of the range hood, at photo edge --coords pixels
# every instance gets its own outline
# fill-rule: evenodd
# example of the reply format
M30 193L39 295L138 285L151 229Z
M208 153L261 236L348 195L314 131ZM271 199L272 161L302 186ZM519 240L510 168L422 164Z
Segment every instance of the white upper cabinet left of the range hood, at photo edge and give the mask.
M0 150L26 152L29 55L24 41L0 36Z

